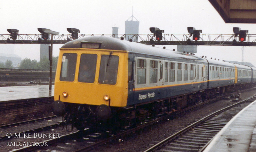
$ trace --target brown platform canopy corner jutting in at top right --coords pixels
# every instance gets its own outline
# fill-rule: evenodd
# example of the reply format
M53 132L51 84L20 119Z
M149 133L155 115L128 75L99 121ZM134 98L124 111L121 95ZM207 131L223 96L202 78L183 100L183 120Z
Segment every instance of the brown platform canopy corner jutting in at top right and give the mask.
M255 0L209 0L225 23L256 23Z

